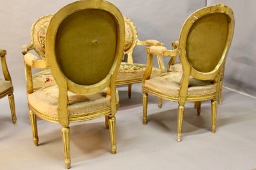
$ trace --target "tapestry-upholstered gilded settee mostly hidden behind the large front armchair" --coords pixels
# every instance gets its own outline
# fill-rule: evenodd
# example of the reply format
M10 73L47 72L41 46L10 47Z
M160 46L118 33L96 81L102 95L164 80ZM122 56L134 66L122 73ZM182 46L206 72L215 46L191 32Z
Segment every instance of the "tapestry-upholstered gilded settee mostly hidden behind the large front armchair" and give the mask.
M31 43L29 45L22 46L22 53L26 55L29 50L35 50L38 53L39 57L33 56L36 59L45 59L45 35L49 22L53 14L45 15L38 18L31 27ZM116 85L128 85L128 96L131 97L131 87L132 83L142 82L143 73L145 72L146 65L134 63L132 58L132 52L136 45L142 46L163 46L163 43L160 43L154 39L148 39L146 41L140 41L138 39L138 32L136 26L127 17L124 17L125 22L125 45L124 45L124 54L127 55L127 62L122 62L118 74L116 77ZM33 54L30 54L31 56ZM154 67L152 71L152 76L163 73L165 71L163 59L161 56L157 57L157 62L159 68ZM51 75L49 69L42 69L38 73L33 74L33 88L35 90L47 87L49 85L56 84L56 81ZM160 101L161 102L161 101Z

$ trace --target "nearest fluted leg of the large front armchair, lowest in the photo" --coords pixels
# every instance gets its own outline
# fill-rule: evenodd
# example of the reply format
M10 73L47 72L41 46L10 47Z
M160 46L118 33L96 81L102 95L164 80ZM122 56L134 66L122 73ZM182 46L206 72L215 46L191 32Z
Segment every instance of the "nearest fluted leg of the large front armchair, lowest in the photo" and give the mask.
M70 130L69 127L62 127L62 142L65 154L65 164L67 169L70 168L71 159L70 159Z

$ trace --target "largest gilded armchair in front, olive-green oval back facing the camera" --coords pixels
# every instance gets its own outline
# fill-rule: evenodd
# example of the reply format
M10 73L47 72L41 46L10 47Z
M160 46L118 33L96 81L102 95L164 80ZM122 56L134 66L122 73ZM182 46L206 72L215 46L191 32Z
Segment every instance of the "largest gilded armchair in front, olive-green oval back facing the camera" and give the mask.
M105 117L111 152L116 153L115 113L119 99L115 81L124 41L124 18L113 4L77 1L61 8L49 22L47 59L24 55L33 141L37 146L36 117L59 123L67 168L71 164L71 122ZM35 90L31 68L45 67L51 69L56 84Z

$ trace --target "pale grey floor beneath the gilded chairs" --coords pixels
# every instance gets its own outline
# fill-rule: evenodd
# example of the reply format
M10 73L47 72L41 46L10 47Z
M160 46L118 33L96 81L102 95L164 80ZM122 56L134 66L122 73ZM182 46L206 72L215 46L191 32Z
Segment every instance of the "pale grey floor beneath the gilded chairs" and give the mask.
M196 116L186 104L183 140L175 141L177 103L148 100L148 124L143 125L141 87L118 87L116 114L118 152L109 151L104 119L70 124L71 169L256 169L256 99L224 89L218 106L217 131L211 127L211 104L202 103ZM65 169L61 128L38 120L39 146L33 145L26 94L16 89L18 122L11 123L8 99L0 101L0 169Z

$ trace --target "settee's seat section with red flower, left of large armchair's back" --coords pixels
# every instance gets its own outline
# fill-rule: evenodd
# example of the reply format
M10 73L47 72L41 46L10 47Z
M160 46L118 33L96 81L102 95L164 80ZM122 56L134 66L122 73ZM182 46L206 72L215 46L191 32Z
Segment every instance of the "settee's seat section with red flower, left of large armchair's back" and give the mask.
M36 74L33 74L33 88L35 90L49 87L52 85L56 85L56 81L54 80L50 69L45 69Z

